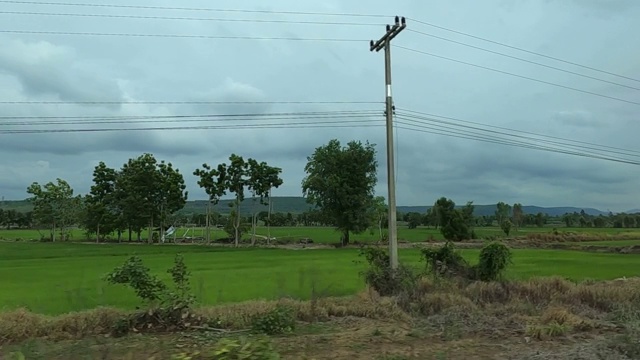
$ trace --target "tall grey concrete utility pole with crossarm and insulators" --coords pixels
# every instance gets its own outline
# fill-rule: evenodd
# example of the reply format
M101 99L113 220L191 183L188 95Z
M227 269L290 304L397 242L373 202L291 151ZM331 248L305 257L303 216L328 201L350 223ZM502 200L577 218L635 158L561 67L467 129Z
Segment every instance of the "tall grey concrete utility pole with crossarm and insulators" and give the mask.
M391 40L395 38L405 27L407 21L402 17L402 23L396 16L393 26L387 25L387 32L374 42L371 40L370 50L380 51L384 49L384 68L386 85L386 111L387 116L387 183L389 189L389 257L391 268L398 268L398 228L396 225L396 177L393 153L393 98L391 97Z

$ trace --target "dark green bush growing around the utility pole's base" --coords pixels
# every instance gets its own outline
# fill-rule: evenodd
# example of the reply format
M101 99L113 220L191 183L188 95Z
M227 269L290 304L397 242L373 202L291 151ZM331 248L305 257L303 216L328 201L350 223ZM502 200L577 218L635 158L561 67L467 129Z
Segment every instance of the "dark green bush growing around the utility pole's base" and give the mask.
M396 270L391 269L389 254L378 247L363 247L360 256L364 256L369 267L360 272L365 283L382 296L399 295L410 292L418 281L418 274L411 268L399 264Z

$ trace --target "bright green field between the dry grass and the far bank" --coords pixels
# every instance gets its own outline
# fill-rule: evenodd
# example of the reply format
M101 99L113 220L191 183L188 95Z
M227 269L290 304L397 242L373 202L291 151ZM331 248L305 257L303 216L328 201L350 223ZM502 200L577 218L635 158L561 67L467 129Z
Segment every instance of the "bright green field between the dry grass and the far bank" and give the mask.
M192 272L192 287L201 304L235 303L288 296L308 299L312 287L324 295L344 296L364 288L358 272L363 264L356 249L231 249L181 245L117 245L74 243L0 243L0 310L19 307L61 314L114 306L138 305L133 292L107 285L102 276L138 254L153 272L168 279L176 253ZM479 250L463 250L475 262ZM528 279L558 275L574 280L638 276L640 255L559 250L513 250L507 276ZM419 251L401 249L400 261L422 267Z

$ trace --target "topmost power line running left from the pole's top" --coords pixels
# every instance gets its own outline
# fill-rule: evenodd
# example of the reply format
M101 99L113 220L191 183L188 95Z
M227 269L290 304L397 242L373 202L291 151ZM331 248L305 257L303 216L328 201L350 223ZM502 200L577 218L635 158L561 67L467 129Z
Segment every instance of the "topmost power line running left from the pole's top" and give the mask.
M13 1L0 0L0 3L8 4L31 4L31 5L54 5L72 7L96 7L96 8L119 8L119 9L143 9L143 10L180 10L180 11L207 11L207 12L227 12L227 13L253 13L253 14L280 14L280 15L314 15L314 16L349 16L368 18L387 18L388 15L357 14L357 13L330 13L330 12L308 12L308 11L276 11L276 10L248 10L248 9L220 9L220 8L193 8L193 7L166 7L148 5L115 5L115 4L89 4L89 3L62 3L62 2L41 2L41 1Z

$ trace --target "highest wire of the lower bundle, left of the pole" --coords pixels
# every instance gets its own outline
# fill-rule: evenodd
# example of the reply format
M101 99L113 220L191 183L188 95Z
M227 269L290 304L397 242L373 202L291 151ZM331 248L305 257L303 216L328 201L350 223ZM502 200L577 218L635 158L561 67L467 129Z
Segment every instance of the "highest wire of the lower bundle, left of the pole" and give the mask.
M3 105L337 105L382 104L382 101L0 101Z

